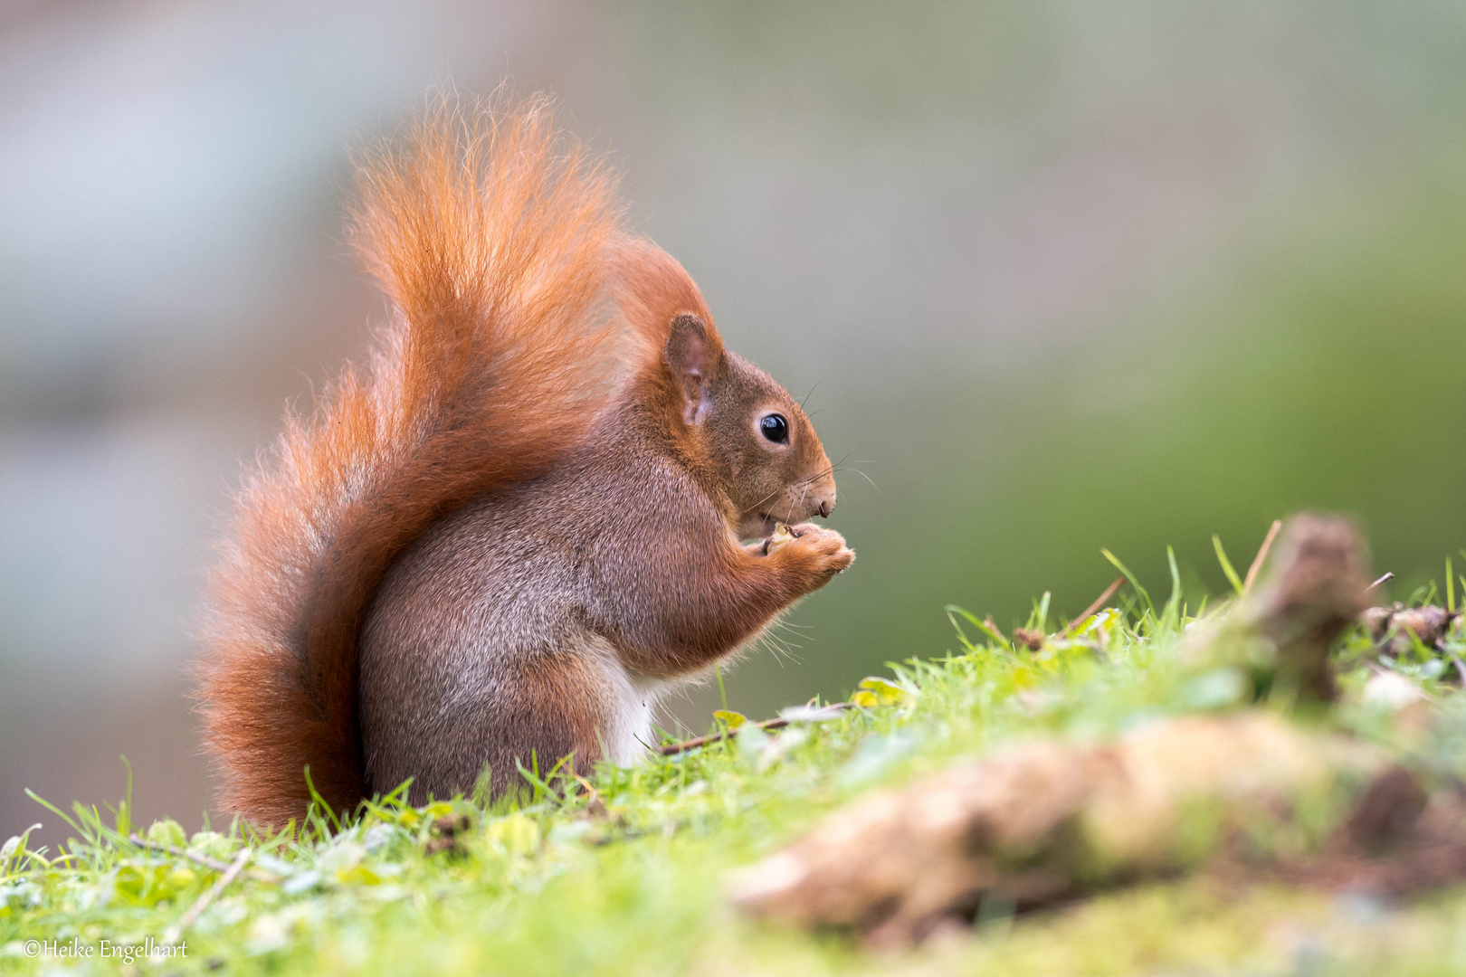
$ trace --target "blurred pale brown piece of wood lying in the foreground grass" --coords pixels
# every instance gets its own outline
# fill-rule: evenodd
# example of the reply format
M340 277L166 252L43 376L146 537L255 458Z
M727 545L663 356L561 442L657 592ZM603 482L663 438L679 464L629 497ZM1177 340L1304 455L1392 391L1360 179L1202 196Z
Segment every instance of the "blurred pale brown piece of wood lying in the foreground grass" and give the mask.
M732 896L758 917L899 946L972 920L990 896L1025 913L1171 876L1198 854L1179 831L1192 803L1275 829L1292 822L1294 798L1341 773L1372 784L1381 766L1366 747L1267 710L1174 716L1110 743L1036 740L862 795L739 872ZM1366 788L1352 806L1366 844L1407 841L1423 807L1416 781L1385 787L1399 790ZM1448 828L1466 850L1457 819ZM1226 838L1214 844L1226 851ZM1253 873L1268 867L1256 861ZM1441 874L1460 879L1466 864Z

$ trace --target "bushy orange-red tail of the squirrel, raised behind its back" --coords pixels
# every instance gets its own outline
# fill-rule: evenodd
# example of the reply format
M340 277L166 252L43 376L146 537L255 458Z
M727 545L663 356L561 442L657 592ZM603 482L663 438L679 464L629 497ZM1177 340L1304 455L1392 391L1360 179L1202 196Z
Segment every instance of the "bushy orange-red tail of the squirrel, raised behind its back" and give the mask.
M359 167L353 240L393 303L364 369L290 416L210 576L199 699L224 806L284 825L364 795L356 640L430 521L545 469L605 395L610 174L535 100L440 100Z

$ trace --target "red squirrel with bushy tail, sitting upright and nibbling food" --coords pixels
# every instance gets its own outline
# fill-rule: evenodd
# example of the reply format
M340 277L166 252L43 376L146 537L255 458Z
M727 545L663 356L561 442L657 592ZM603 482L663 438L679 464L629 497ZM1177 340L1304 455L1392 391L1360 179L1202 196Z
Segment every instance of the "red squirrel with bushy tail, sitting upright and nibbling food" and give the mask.
M805 412L544 100L443 101L358 177L390 325L286 416L208 582L205 744L259 825L312 785L349 810L626 763L667 688L855 560L806 521L836 485Z

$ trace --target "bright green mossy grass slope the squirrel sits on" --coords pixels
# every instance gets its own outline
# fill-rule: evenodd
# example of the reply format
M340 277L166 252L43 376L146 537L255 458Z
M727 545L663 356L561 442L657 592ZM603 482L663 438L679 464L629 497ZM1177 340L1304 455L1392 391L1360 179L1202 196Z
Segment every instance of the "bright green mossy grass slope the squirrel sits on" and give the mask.
M1157 716L1242 706L1243 683L1185 665L1177 653L1204 614L1185 603L1179 584L1160 606L1129 587L1119 609L1029 652L951 608L951 652L893 665L887 684L862 697L868 705L836 719L604 768L585 785L545 778L488 810L463 798L412 809L393 797L340 826L314 814L293 835L249 836L236 825L186 838L172 822L130 825L126 801L78 804L65 814L75 836L63 851L29 851L21 838L0 852L0 971L117 971L122 959L97 956L101 940L163 939L218 877L129 842L133 832L221 861L248 848L249 867L262 873L236 879L213 901L182 936L186 956L135 964L138 973L1466 971L1459 892L1384 907L1278 888L1237 898L1201 879L1176 880L985 921L973 939L884 955L839 936L752 923L727 905L730 869L866 791L1023 737L1092 740ZM1028 627L1053 634L1057 625L1045 596ZM1365 649L1362 636L1346 643L1344 659L1358 666L1343 680L1346 705L1324 721L1410 750L1441 773L1466 772L1466 710L1441 680L1440 658L1418 649L1400 664L1447 719L1428 743L1401 744L1384 713L1358 703L1369 675ZM585 787L605 816L588 813ZM434 820L457 814L472 822L459 850L428 854ZM73 937L94 956L26 956L26 940Z

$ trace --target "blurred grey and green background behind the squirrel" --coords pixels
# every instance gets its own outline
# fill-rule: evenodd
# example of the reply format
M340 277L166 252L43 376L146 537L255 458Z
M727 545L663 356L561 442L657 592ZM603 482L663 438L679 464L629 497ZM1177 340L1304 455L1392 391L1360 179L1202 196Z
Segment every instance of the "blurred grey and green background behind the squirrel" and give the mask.
M548 89L844 458L855 568L752 715L1111 579L1224 586L1297 507L1396 593L1466 529L1459 3L0 3L0 838L32 788L199 823L199 568L383 305L347 151ZM858 469L861 473L856 473ZM1460 562L1460 560L1459 560ZM795 647L798 646L798 647ZM715 691L674 703L701 729Z

